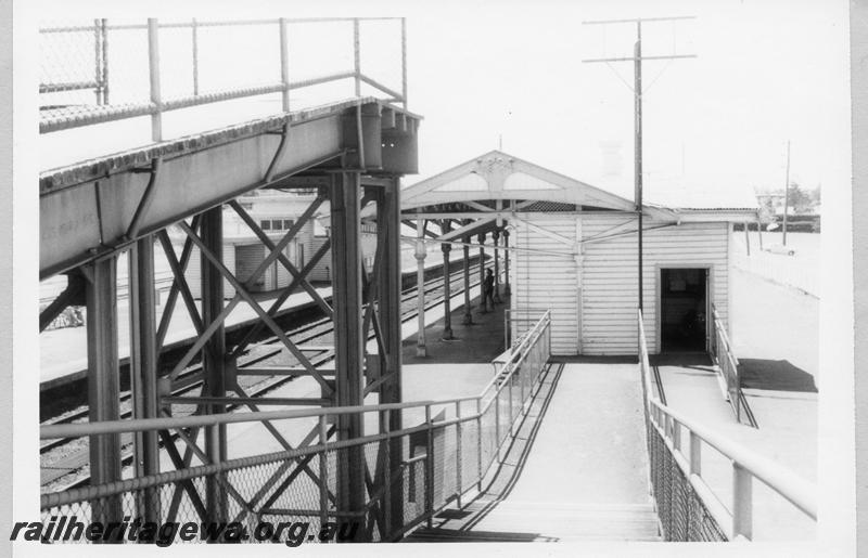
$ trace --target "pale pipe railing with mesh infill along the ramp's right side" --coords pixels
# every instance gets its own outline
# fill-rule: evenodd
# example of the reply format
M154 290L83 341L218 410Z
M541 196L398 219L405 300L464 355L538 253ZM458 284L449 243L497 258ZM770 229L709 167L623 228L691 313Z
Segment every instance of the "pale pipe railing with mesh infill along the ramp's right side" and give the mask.
M751 540L754 479L816 521L816 484L661 403L652 391L641 311L638 327L650 485L665 540ZM716 450L731 464L729 507L703 476L705 446Z

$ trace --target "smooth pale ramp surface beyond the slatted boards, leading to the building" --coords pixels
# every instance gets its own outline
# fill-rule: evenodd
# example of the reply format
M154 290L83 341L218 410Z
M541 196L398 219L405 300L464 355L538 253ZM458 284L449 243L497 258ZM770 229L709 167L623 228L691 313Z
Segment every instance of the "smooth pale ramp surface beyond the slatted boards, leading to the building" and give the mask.
M570 363L509 498L548 506L647 504L647 471L636 367Z

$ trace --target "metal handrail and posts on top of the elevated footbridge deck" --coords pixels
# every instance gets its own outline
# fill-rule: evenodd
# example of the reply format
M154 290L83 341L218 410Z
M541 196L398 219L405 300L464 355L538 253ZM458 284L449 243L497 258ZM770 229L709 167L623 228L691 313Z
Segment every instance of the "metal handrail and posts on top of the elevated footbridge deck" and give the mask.
M380 81L373 79L371 76L365 74L360 65L360 40L359 40L359 23L360 22L400 22L400 64L401 64L401 83L400 91L396 91ZM331 23L331 22L352 22L353 23L353 49L354 49L354 68L346 72L339 72L328 76L292 80L290 78L290 69L288 62L289 42L286 27L289 25L301 24L316 24L316 23ZM281 81L276 83L258 83L255 86L247 86L241 88L230 88L219 91L200 92L199 91L199 48L197 36L195 30L200 27L239 27L250 25L278 25L280 28L280 74ZM176 29L176 28L191 28L193 29L192 38L192 72L193 72L193 94L180 98L164 99L161 93L159 87L159 30L161 29ZM148 92L149 101L138 103L123 103L113 105L107 101L108 91L108 77L107 77L107 51L100 50L100 44L107 42L108 30L146 30L149 42L149 74L150 91ZM162 140L162 115L165 112L176 111L180 108L188 108L192 106L200 106L205 104L218 103L222 101L243 99L250 96L258 96L269 93L282 93L283 112L290 112L290 91L299 88L318 86L328 82L341 81L344 79L355 80L356 96L360 95L361 83L374 88L381 93L386 95L390 102L401 103L403 107L407 108L407 34L406 34L406 20L404 17L319 17L319 18L270 18L270 20L233 20L222 22L175 22L175 23L159 23L157 20L151 18L146 24L125 24L125 25L110 25L105 20L94 22L93 26L65 26L65 27L48 27L40 29L41 35L58 35L58 34L80 34L82 31L92 31L97 36L97 55L94 65L97 67L97 78L79 80L75 82L58 81L40 83L40 93L59 92L59 91L73 91L81 89L93 89L97 92L97 104L86 105L84 112L79 114L63 114L63 111L49 109L47 115L40 119L39 131L40 133L49 133L59 130L66 130L78 128L82 126L90 126L94 124L102 124L115 120L123 120L135 118L139 116L150 115L152 117L152 138L153 141ZM142 95L144 98L144 95Z

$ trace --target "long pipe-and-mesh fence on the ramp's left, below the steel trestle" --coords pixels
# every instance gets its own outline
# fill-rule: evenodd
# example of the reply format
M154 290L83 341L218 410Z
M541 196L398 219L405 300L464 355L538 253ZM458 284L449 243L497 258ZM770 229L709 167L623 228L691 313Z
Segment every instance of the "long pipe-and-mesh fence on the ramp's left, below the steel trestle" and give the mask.
M92 507L100 509L106 501L114 498L118 504L136 501L142 491L161 492L175 489L171 496L177 502L178 493L190 491L193 481L202 478L214 479L225 488L231 499L240 504L245 514L256 517L283 515L310 515L321 520L336 517L360 515L370 527L369 540L395 540L422 521L431 522L433 516L452 501L460 505L462 497L474 489L482 488L485 478L502 463L502 450L516 433L516 425L529 411L529 403L539 390L549 359L550 314L546 312L519 343L500 375L492 378L477 395L379 405L349 407L326 407L308 410L285 410L275 412L253 412L243 414L194 415L186 417L165 417L150 419L129 419L101 423L51 425L40 428L41 439L56 439L82 436L119 434L142 431L167 431L182 428L201 428L228 424L259 423L276 428L280 420L301 419L319 423L319 441L303 443L301 446L263 455L240 457L219 463L205 463L200 466L165 471L148 477L126 479L110 484L85 486L68 491L43 494L41 507L46 517L72 515ZM424 416L424 420L412 427L391 431L391 414L399 412L407 419L413 412ZM339 415L373 414L379 421L380 432L361 438L329 441L329 425ZM393 442L400 442L395 445ZM421 445L420 445L421 444ZM390 463L390 452L400 451L400 459L394 469L378 468L370 473L381 475L383 480L376 491L366 492L363 511L334 509L330 504L330 480L335 475L333 466L342 459L342 452L361 446L385 452L385 463ZM416 452L414 449L423 447ZM304 476L295 483L281 484L275 489L272 483L260 485L254 478L261 478L263 470L285 467L297 463L297 467L318 459L318 477L314 472L311 484ZM316 466L311 466L316 469ZM269 469L270 470L270 469ZM234 480L232 480L234 479ZM231 481L231 482L230 482ZM401 485L396 485L403 484ZM270 491L275 491L269 496ZM277 491L282 491L276 495ZM307 507L301 509L277 509L263 502L275 502L283 492L288 496L304 499ZM186 497L183 492L181 498ZM314 495L318 495L314 502ZM404 509L401 518L391 516L394 497L400 495ZM166 495L168 498L168 495ZM192 496L191 496L192 499ZM261 506L257 509L257 506ZM174 507L174 512L178 508ZM292 514L291 514L292 511ZM159 511L157 511L157 515ZM171 515L173 511L169 511ZM200 512L201 515L201 512ZM174 516L173 516L174 517ZM395 523L397 521L397 523ZM373 527L378 525L378 527ZM379 529L379 530L378 530Z

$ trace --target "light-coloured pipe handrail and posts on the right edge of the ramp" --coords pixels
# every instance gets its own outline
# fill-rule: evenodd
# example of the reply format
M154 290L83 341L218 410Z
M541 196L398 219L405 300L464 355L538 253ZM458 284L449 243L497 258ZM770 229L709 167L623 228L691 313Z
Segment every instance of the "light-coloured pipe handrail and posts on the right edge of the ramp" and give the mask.
M644 398L644 419L648 426L649 453L654 460L650 437L660 436L666 452L680 469L690 488L701 501L726 538L751 540L753 537L753 479L757 479L792 504L807 517L817 520L817 486L792 470L764 457L753 450L735 442L714 429L703 426L669 406L664 405L652 391L648 349L642 324L642 313L638 312L639 327L639 368ZM689 440L689 451L685 454L685 439ZM703 476L703 447L710 446L727 458L732 468L732 502L727 507ZM653 467L653 464L652 464ZM652 478L662 478L651 471ZM668 477L669 479L674 477ZM666 495L672 497L673 486L654 485L652 492L659 510L671 506L661 502ZM664 529L665 531L665 529ZM687 530L689 531L689 529ZM671 540L672 533L667 534Z

